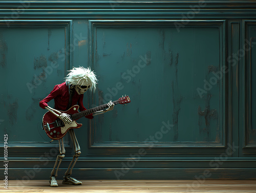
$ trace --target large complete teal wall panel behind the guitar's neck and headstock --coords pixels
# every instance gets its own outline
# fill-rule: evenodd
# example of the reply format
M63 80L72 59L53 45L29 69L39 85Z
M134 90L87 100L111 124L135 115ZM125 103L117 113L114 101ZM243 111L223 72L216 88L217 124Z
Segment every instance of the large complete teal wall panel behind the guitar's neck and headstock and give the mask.
M172 20L90 21L91 66L100 74L96 101L123 92L132 100L94 119L92 147L225 146L225 21L176 26ZM172 128L161 132L166 123Z

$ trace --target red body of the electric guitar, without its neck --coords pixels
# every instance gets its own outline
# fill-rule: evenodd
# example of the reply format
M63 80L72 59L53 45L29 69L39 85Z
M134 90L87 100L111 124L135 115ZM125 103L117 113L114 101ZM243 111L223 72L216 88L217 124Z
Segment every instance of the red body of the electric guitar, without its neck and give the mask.
M79 106L74 105L68 111L60 111L62 113L66 113L68 115L73 115L78 113ZM46 134L51 139L61 139L64 137L70 128L79 128L82 124L77 123L75 120L72 121L71 124L65 124L58 117L54 116L51 112L47 112L42 118L42 126Z

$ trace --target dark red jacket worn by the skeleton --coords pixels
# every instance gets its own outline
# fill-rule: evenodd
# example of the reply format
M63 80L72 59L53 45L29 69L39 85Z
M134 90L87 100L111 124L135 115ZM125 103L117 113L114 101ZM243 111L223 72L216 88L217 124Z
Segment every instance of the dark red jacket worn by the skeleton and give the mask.
M52 99L54 99L54 109L66 111L69 104L69 85L66 82L55 85L52 92L39 102L39 106L42 109L45 109L45 107L48 106L47 102ZM86 110L86 108L83 106L82 100L83 94L79 95L76 91L74 91L71 106L78 104L80 111ZM86 118L93 119L93 116L91 114L86 116Z

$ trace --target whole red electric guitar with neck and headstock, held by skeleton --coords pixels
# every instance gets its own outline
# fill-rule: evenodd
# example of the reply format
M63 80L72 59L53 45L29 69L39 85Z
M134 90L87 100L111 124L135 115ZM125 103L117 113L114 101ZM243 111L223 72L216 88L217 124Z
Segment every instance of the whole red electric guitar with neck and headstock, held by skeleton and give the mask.
M114 101L113 103L116 104L126 104L131 102L129 96L121 97L118 100ZM71 124L65 124L60 118L56 117L50 111L48 111L44 117L42 117L42 129L45 130L46 134L53 140L61 139L64 137L70 128L79 128L82 124L77 123L76 120L80 119L81 117L90 115L95 113L96 111L101 111L103 109L109 108L108 104L102 104L96 106L95 108L85 110L82 112L78 112L79 105L72 106L67 111L60 111L61 113L66 113L70 115L72 120Z

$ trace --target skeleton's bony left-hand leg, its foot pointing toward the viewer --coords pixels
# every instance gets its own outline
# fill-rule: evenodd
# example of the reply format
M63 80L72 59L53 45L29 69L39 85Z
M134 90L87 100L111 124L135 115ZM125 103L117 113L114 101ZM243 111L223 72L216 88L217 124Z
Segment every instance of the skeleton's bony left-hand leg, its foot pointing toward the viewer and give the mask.
M54 167L53 167L52 172L51 172L51 176L50 176L51 187L58 186L57 181L56 181L56 177L58 176L58 169L59 169L60 163L61 163L63 157L65 157L65 153L66 153L64 143L63 143L63 138L61 138L61 144L60 144L60 139L58 141L59 141L59 155L56 158ZM59 161L59 163L58 163L58 161ZM58 163L58 166L57 166L57 163ZM56 173L55 173L56 166L57 166L57 169L56 169Z

